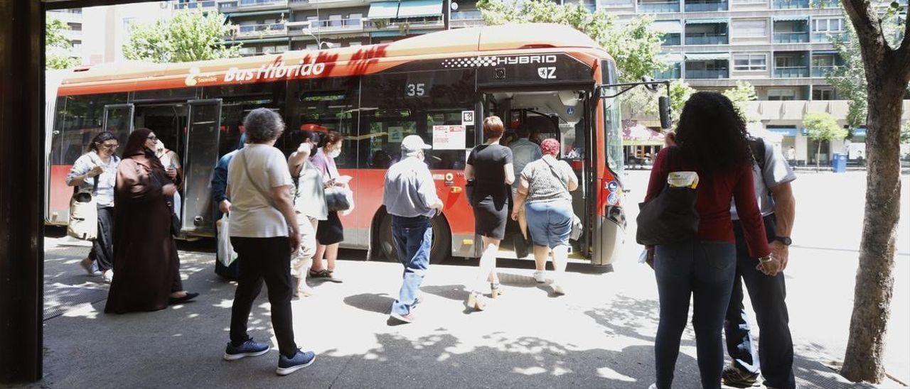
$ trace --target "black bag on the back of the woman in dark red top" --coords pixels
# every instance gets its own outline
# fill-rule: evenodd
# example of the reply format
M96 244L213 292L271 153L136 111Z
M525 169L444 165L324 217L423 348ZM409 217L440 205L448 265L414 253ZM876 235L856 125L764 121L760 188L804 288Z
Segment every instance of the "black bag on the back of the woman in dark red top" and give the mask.
M675 154L674 149L675 147L668 152L668 166L672 155ZM695 182L697 185L697 175ZM693 186L664 183L661 194L647 203L639 204L641 212L635 219L638 224L635 241L643 245L656 245L673 244L695 238L700 217L695 209L698 192Z

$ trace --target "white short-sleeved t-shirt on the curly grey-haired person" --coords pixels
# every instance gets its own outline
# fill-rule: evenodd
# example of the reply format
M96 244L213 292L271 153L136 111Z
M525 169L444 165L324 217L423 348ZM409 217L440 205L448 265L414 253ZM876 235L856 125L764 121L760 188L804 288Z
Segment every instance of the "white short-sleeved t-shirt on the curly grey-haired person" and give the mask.
M272 205L271 188L291 185L294 182L288 161L280 150L270 145L244 146L227 166L227 191L231 200L229 234L248 238L288 236L288 222Z

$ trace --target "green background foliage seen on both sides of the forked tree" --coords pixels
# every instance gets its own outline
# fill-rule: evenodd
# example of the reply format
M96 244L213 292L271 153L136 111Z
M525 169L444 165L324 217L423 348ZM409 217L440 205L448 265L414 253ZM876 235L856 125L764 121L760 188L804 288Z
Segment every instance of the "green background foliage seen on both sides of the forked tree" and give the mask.
M882 28L885 38L899 39L903 33L899 28L901 20L894 9L889 9L882 19ZM858 127L865 125L868 95L866 94L865 70L863 55L860 52L859 37L853 25L845 26L845 33L829 35L828 39L834 45L837 54L843 59L844 64L834 67L825 78L833 85L837 94L849 100L847 110L847 125ZM890 39L889 39L890 40Z

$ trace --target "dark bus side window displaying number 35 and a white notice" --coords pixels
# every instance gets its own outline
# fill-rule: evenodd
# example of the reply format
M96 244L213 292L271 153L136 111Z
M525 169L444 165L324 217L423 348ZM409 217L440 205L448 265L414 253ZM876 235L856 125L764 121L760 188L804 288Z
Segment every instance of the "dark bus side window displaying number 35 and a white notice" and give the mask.
M463 169L464 150L473 146L475 125L464 125L462 111L473 111L474 69L410 72L363 77L360 138L369 139L362 167L384 169L400 159L401 140L420 135L433 145L431 169ZM475 124L477 121L475 120ZM447 141L444 141L448 139Z

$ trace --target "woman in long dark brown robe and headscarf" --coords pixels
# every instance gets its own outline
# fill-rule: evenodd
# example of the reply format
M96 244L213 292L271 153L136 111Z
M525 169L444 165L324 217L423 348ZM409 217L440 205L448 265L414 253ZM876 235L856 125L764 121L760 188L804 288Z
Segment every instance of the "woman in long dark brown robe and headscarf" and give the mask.
M117 165L114 203L114 273L105 313L157 311L197 297L180 280L180 257L171 234L168 197L177 185L155 156L157 136L130 133Z

